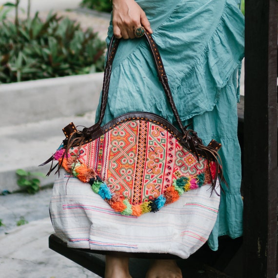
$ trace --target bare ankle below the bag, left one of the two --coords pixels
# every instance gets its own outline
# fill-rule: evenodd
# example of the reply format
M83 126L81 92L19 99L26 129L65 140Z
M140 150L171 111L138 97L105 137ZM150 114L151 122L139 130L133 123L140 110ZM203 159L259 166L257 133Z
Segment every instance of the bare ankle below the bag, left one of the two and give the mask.
M128 269L129 258L106 255L105 278L132 278Z

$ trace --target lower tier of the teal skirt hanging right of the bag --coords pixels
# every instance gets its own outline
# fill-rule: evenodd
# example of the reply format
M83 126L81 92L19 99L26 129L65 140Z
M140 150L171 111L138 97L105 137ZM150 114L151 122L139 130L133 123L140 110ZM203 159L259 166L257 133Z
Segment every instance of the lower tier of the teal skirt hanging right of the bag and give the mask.
M222 184L218 218L208 240L213 250L218 249L219 236L228 235L237 238L242 235L243 202L240 194L241 161L237 137L236 73L235 71L226 86L220 89L214 109L192 119L194 129L205 145L211 139L216 139L222 144L218 153L228 187ZM223 107L229 108L223 109Z

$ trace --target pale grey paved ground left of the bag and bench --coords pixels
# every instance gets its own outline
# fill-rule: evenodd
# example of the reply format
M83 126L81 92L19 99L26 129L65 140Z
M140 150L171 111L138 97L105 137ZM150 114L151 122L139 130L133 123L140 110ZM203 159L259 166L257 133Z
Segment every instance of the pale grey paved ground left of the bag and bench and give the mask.
M97 278L48 248L53 228L48 214L51 188L36 195L0 196L1 278ZM23 218L22 218L23 217ZM17 226L18 221L28 223Z

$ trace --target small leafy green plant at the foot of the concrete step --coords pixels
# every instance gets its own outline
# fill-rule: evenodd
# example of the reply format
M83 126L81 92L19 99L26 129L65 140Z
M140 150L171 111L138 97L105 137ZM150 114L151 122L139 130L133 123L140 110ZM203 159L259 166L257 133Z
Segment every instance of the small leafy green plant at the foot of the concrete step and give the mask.
M35 194L40 190L40 179L37 177L45 177L43 173L31 173L22 169L18 169L16 174L19 176L18 185L29 194Z

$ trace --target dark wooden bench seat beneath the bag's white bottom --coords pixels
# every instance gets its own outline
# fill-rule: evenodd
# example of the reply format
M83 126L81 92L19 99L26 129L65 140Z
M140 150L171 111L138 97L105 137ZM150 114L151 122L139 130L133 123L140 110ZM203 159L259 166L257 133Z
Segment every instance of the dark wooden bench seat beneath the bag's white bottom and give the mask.
M212 251L205 244L194 255L188 259L180 259L169 254L149 254L149 253L126 253L130 257L130 274L133 278L143 278L149 267L150 259L154 258L177 258L179 267L181 268L183 277L190 278L232 278L240 277L241 258L240 256L234 260L235 254L238 253L242 239L230 239L227 237L219 238L218 251ZM113 252L104 252L68 248L67 244L58 238L55 234L49 237L49 248L60 255L71 259L82 267L92 271L93 273L104 277L105 270L105 254ZM241 253L241 252L240 252ZM115 252L114 252L115 254ZM234 267L232 264L236 264ZM229 272L227 275L225 272Z

